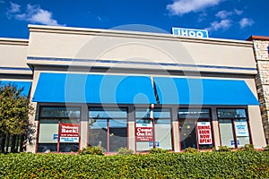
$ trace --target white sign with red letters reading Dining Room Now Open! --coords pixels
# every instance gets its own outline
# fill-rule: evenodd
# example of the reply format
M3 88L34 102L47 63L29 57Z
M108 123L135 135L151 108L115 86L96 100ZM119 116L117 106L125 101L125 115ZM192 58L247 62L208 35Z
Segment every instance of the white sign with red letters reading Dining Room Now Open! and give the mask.
M199 144L212 144L212 133L210 122L197 122Z

